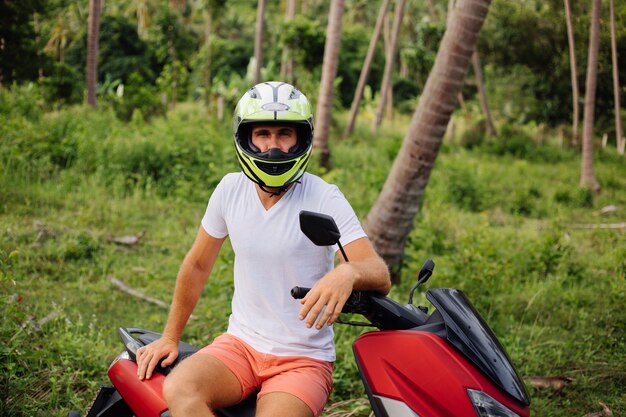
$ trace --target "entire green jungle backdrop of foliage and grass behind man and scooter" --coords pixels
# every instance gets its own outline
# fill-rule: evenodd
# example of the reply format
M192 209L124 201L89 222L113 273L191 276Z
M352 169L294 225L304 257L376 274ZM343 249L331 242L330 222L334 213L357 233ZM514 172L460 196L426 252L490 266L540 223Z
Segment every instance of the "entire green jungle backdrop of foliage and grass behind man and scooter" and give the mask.
M416 303L428 303L427 287L463 290L526 381L534 416L626 415L626 169L618 123L626 112L616 105L626 100L626 4L594 2L601 9L588 138L591 2L484 2L479 67L464 76L390 294L406 302L432 258L434 276ZM122 350L117 327L162 330L167 309L123 288L165 306L171 300L213 188L238 170L230 118L255 78L287 79L314 105L321 100L331 3L0 2L0 414L84 413ZM394 36L398 2L390 2L351 132L380 2L343 4L330 159L317 152L310 166L339 186L361 219L415 133L411 115L454 7L403 3ZM391 88L381 92L390 62ZM595 185L582 181L585 140ZM225 245L185 341L204 345L225 330L232 267ZM361 330L335 331L335 389L324 415L367 416L351 352Z

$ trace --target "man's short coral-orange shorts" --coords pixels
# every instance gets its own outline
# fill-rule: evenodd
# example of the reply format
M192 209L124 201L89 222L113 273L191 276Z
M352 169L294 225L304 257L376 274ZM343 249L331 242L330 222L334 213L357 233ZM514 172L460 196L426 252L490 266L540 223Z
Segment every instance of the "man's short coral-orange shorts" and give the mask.
M333 362L260 353L230 334L215 338L198 353L219 359L235 374L241 383L242 400L256 390L260 390L257 398L287 392L304 401L318 416L333 389Z

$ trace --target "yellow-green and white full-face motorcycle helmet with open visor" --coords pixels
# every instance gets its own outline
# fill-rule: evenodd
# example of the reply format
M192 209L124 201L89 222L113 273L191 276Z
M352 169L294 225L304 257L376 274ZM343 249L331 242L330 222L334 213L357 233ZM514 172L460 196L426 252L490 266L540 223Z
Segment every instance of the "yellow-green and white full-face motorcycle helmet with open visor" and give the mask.
M289 152L259 152L251 142L254 124L295 127L298 143ZM244 174L265 189L285 190L306 170L313 144L311 103L297 88L284 82L264 82L248 90L235 107L233 133L237 158Z

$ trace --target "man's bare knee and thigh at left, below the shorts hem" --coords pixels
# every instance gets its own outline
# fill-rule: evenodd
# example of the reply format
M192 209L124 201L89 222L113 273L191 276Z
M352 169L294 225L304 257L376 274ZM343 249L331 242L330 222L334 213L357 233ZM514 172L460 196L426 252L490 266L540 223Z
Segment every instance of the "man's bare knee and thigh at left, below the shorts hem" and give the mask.
M166 397L200 397L211 408L241 401L241 384L226 365L211 355L195 354L183 360L165 381ZM168 400L168 398L166 398Z

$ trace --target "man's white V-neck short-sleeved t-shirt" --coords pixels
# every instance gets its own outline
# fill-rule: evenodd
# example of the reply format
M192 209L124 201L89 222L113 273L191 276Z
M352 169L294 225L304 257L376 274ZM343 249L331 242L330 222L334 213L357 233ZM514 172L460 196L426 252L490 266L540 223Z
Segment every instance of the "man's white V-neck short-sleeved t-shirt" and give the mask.
M227 174L209 199L202 226L215 237L230 236L235 252L235 293L228 333L259 352L335 360L333 331L307 328L294 286L312 287L334 267L334 247L315 246L300 230L301 210L332 216L341 244L365 237L341 191L305 173L269 210L243 173Z

